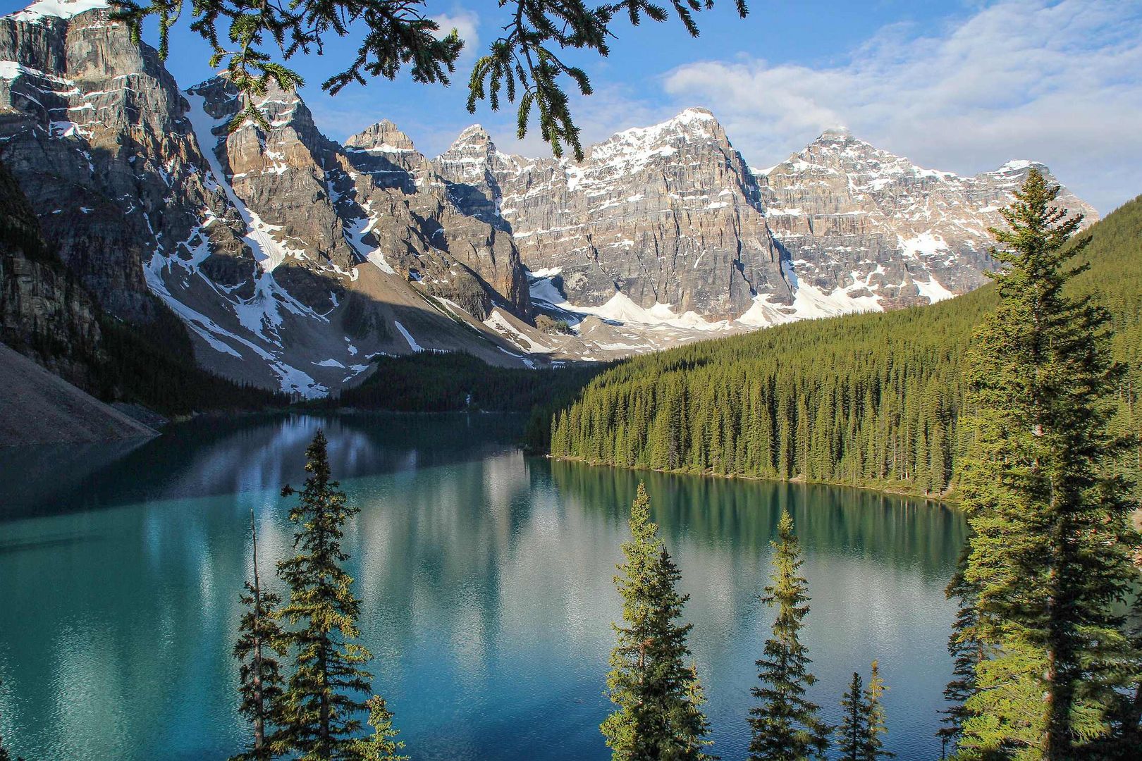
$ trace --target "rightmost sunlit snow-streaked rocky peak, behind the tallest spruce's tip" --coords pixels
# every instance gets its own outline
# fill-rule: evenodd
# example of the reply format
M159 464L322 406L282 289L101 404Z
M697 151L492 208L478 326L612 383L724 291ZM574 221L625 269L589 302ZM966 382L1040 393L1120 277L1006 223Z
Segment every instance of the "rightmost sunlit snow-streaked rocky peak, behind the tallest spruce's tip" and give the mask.
M799 282L887 309L979 286L995 265L987 229L1004 227L998 210L1032 165L1053 179L1028 161L975 177L922 169L829 130L755 175L770 230ZM1097 219L1073 194L1061 201L1088 222Z

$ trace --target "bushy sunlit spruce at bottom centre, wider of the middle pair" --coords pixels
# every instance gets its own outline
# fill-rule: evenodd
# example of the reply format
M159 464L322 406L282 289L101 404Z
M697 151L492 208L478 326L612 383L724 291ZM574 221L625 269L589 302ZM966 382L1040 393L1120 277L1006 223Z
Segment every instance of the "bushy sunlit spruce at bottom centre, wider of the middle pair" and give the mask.
M611 651L606 687L618 710L601 730L614 761L689 761L709 759L703 748L709 724L693 665L686 665L691 624L681 624L687 594L682 574L650 520L650 497L640 484L630 508L625 562L614 583L622 597L622 624Z

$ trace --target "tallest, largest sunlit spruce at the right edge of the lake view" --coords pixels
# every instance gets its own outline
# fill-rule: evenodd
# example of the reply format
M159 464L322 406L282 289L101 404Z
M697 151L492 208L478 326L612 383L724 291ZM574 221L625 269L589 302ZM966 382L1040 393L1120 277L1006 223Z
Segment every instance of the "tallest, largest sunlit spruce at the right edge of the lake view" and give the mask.
M1109 432L1121 366L1108 313L1064 285L1081 217L1032 169L992 229L1004 265L997 310L968 355L973 447L964 507L973 529L965 582L987 646L959 740L967 758L1073 759L1107 731L1125 647L1115 608L1136 578L1131 488L1109 468L1128 442Z

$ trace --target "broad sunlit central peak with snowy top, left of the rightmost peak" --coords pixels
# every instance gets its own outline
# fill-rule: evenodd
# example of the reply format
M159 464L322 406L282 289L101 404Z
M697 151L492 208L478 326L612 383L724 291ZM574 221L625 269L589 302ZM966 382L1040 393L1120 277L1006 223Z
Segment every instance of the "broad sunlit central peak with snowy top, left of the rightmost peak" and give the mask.
M581 163L507 156L472 128L435 164L471 213L504 221L529 268L557 272L570 303L621 293L733 319L757 292L791 300L757 184L708 111L620 132Z

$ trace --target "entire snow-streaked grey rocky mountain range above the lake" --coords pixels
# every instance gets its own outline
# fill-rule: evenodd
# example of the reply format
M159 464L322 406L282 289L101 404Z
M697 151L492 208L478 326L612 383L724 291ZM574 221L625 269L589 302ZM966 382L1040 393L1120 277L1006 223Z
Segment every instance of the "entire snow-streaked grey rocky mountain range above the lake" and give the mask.
M379 355L612 359L965 293L998 209L1047 172L922 169L844 130L756 169L702 108L581 162L505 154L478 126L431 159L389 121L337 143L278 90L256 104L268 128L228 131L246 105L224 76L182 89L104 0L0 18L6 192L65 268L0 249L0 339L90 339L95 311L174 324L199 366L305 397Z

